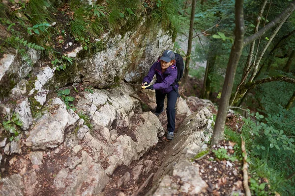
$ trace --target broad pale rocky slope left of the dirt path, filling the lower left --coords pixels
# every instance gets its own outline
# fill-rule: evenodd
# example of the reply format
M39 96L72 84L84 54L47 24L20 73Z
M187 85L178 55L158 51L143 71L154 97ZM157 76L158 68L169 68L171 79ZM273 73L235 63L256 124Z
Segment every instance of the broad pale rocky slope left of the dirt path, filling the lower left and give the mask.
M15 195L57 190L57 195L64 196L98 195L119 166L139 160L164 134L158 118L142 111L140 98L128 85L94 89L93 94L82 91L77 113L67 110L60 98L52 98L43 107L43 116L33 121L27 139L19 135L17 141L6 144L7 154L20 153L20 143L32 150L25 155L28 159L7 160L20 171L16 181L20 185L10 176L2 179L1 190L17 186ZM92 126L83 124L77 114L87 116Z

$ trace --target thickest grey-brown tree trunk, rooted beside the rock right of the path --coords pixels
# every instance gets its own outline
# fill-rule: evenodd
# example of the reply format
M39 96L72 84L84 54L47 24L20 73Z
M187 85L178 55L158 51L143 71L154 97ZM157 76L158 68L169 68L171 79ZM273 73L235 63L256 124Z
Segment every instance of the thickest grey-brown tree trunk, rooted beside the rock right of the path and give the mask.
M230 97L233 90L233 83L236 75L236 67L243 50L245 33L243 2L243 0L236 0L235 4L235 42L231 49L231 54L226 69L225 81L222 88L222 94L214 126L211 145L217 145L219 141L224 139L224 125L229 107Z

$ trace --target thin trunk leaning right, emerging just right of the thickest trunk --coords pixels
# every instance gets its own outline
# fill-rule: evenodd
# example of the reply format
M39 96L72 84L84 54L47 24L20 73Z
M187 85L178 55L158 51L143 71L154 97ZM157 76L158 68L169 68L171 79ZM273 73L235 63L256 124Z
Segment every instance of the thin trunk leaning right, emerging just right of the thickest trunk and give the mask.
M265 9L265 7L266 7L266 3L267 3L267 0L265 0L265 1L263 2L262 7L261 7L261 9L260 9L260 12L259 12L259 14L258 14L258 16L257 16L257 19L256 19L257 24L256 24L255 29L254 29L254 34L257 33L257 31L258 31L258 29L259 29L259 25L260 25L261 17L262 17L262 15L263 15L264 9ZM246 79L247 79L247 77L248 77L248 74L250 73L250 71L251 71L251 69L252 69L252 68L250 68L250 66L251 66L251 64L252 64L252 58L253 58L254 48L255 48L255 40L254 40L254 42L251 44L250 51L249 51L249 55L248 55L248 58L247 58L246 66L245 66L245 68L244 68L244 72L243 72L243 75L242 75L241 82L237 85L237 87L236 87L236 93L234 94L234 96L233 96L233 97L231 98L231 100L230 100L230 106L233 105L234 100L235 100L235 98L236 98L236 95L237 95L237 93L238 93L238 91L239 91L240 86L244 84L244 82L246 81ZM259 48L259 45L257 46L257 48Z

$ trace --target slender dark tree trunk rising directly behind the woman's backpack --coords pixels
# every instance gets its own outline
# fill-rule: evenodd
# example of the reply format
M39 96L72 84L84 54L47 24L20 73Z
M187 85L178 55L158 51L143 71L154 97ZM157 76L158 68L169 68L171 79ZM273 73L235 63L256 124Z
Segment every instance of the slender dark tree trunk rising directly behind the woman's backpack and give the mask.
M193 0L192 2L192 11L191 11L191 17L190 17L190 25L189 25L189 35L188 35L188 43L187 43L187 53L186 53L186 59L185 59L185 68L184 68L184 75L183 80L185 83L188 77L188 70L189 70L189 61L190 61L190 55L192 51L192 41L193 41L193 30L194 30L194 19L195 19L195 8L196 8L196 1Z

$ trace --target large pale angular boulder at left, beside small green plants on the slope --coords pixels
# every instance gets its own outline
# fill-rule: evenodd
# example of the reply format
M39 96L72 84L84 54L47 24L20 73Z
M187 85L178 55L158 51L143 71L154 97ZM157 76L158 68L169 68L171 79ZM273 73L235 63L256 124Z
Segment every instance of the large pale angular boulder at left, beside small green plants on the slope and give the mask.
M72 125L78 118L73 118L66 110L62 100L55 98L48 105L52 113L42 116L30 130L27 145L33 149L46 149L57 147L63 142L64 130Z

